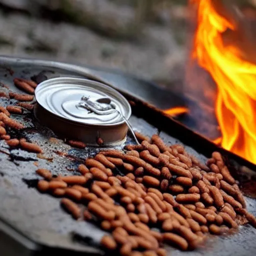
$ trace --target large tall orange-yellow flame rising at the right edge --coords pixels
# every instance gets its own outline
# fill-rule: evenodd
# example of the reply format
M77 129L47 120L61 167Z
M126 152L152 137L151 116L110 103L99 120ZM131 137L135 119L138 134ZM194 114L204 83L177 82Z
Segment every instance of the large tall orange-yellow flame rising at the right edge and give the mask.
M256 163L255 55L248 51L248 40L244 43L240 21L224 11L220 0L190 2L197 8L192 57L216 83L221 146Z

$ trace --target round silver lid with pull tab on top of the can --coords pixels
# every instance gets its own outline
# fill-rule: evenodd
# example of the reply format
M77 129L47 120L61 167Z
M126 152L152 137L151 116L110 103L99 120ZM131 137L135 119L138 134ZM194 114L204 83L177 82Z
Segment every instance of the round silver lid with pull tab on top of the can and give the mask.
M118 91L93 80L52 78L39 83L34 94L52 114L80 124L117 125L131 115L128 101Z

